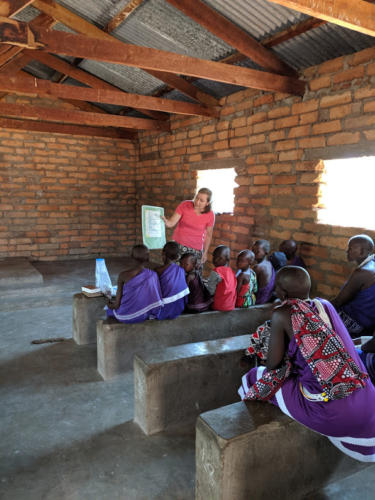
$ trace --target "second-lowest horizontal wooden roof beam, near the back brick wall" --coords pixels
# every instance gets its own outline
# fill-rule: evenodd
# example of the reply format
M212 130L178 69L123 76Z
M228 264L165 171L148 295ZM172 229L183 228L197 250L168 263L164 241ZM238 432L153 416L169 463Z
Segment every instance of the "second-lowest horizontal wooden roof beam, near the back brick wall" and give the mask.
M131 130L165 130L169 131L169 124L157 120L133 118L85 111L46 108L43 106L28 106L0 102L0 115L18 118L22 116L30 120L42 120L76 125L92 125L103 127L121 127Z

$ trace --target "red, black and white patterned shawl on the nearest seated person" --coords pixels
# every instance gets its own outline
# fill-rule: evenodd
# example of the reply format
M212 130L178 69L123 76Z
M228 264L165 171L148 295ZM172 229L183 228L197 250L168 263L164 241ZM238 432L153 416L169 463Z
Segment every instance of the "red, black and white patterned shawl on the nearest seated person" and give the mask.
M294 339L324 391L324 400L342 399L353 391L363 388L368 375L360 370L334 330L314 312L306 301L289 299L284 304L291 306ZM269 332L269 327L264 328L262 332L258 332L258 335L259 333L263 337L268 335L269 342ZM266 341L263 341L263 344L265 343ZM270 399L289 376L291 368L289 360L284 359L280 368L266 370L249 389L245 398Z

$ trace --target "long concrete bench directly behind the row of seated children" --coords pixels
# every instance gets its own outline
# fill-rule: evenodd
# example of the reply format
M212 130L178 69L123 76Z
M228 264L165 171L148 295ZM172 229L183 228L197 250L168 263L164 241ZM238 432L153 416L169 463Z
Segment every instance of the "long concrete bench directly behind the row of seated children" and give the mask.
M133 368L135 353L253 332L270 318L269 304L229 312L182 314L173 320L125 324L97 322L98 371L104 379Z

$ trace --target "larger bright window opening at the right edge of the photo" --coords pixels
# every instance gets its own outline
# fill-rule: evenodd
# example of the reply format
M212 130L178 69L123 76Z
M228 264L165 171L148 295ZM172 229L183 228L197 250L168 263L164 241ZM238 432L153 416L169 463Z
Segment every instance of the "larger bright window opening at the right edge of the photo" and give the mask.
M325 160L318 222L375 229L375 156Z

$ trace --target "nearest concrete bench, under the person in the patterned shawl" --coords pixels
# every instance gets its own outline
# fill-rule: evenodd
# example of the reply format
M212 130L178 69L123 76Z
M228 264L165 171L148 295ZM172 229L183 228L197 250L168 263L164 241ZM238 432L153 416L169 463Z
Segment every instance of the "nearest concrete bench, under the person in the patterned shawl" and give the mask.
M268 403L239 402L197 420L196 500L301 499L368 465Z

